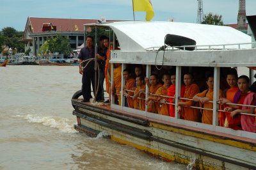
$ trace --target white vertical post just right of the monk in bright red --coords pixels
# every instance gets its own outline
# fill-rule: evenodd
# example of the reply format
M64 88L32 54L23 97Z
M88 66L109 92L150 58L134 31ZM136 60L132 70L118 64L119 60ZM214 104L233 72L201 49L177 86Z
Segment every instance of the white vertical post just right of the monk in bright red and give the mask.
M180 115L178 114L177 105L180 97L180 86L181 86L181 66L176 66L176 81L175 81L175 121L177 122Z

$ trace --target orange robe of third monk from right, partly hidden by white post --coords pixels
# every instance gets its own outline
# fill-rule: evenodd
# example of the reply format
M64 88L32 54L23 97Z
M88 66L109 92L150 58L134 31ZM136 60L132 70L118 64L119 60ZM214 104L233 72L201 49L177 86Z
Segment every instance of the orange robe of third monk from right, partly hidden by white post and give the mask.
M206 89L202 93L197 94L198 97L207 97L210 99L210 101L213 100L213 89ZM219 91L219 98L223 97L223 92ZM204 105L200 102L200 107L204 107L206 109L212 109L213 103L212 102L206 102ZM204 110L202 109L202 123L206 123L209 125L212 125L212 111Z

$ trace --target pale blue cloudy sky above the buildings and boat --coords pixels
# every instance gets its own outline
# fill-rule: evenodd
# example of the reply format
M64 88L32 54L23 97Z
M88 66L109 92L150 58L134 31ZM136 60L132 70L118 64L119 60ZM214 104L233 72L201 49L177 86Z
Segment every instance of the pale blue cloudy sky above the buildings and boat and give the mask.
M151 0L152 20L174 19L196 23L197 0ZM222 15L224 24L237 23L239 0L203 0L204 14ZM68 19L132 20L132 0L1 0L0 29L14 27L24 31L28 17ZM246 15L256 15L256 0L246 0ZM136 20L145 20L145 12L136 12Z

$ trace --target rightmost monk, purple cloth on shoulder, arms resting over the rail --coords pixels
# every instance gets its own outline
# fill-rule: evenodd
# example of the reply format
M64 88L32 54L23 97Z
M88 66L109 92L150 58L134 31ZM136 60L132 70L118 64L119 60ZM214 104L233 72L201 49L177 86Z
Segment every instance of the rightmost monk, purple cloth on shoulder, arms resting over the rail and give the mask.
M248 102L250 102L250 104L248 105L254 105L255 100L254 100L254 94L255 93L251 93L250 89L249 89L249 81L250 79L246 76L246 75L241 75L238 79L237 79L237 84L238 84L238 88L239 91L236 92L235 96L234 96L234 100L233 103L234 104L248 104ZM248 98L246 98L248 96ZM246 99L246 100L245 100ZM227 103L231 103L229 100L224 100L222 101L224 104ZM243 112L246 111L247 113L250 112L254 112L251 111L251 109L248 109L250 107L242 107L239 105L230 105L227 104L229 107L225 107L225 111L226 111L226 118L228 121L228 127L229 128L233 128L234 130L241 130L241 114L237 114L238 112ZM243 111L242 111L243 110ZM252 110L254 110L252 108ZM232 112L231 114L227 114L227 112ZM246 118L246 117L245 117ZM247 122L245 120L243 120L243 125L246 127ZM244 127L244 128L245 128ZM248 129L248 127L246 127L245 129ZM250 128L249 128L250 129Z

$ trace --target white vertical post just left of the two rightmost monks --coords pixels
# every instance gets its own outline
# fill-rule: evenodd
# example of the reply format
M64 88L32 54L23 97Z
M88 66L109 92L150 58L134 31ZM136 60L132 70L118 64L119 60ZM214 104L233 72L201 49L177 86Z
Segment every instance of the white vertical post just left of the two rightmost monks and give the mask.
M214 67L214 86L213 86L213 111L212 111L212 125L213 127L218 126L219 122L219 91L220 91L220 67Z

